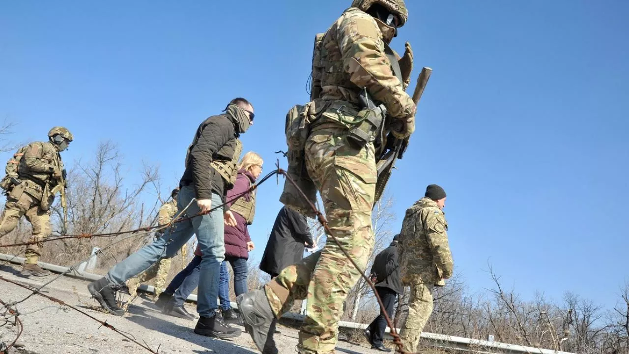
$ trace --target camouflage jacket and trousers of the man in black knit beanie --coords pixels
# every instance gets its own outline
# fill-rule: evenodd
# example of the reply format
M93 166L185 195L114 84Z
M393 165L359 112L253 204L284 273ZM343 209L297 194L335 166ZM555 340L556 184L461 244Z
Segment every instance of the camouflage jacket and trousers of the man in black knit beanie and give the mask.
M448 246L448 222L437 203L421 198L406 210L399 236L402 282L411 288L408 317L400 337L413 353L433 309L433 287L452 277L454 263Z

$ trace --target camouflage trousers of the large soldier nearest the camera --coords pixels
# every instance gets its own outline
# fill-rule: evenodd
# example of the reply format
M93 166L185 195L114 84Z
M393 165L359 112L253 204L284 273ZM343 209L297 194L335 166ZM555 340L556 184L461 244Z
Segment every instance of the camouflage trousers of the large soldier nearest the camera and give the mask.
M374 246L374 146L356 149L348 145L346 132L345 128L328 125L313 129L306 142L306 168L321 193L328 226L340 246L328 237L321 251L284 268L265 285L277 318L291 309L294 300L306 299L306 319L299 331L298 351L302 354L334 353L343 301L365 270Z

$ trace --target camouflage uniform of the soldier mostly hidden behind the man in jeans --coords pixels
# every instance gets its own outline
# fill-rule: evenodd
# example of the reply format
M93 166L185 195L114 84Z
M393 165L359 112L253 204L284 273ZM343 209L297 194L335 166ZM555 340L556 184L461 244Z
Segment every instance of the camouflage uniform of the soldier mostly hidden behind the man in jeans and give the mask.
M166 202L159 208L159 220L160 225L168 224L175 215L177 215L177 200L176 198ZM181 248L182 256L186 257L186 246ZM164 285L166 284L166 278L170 271L170 265L172 264L172 258L162 258L159 262L153 264L137 277L127 280L126 287L129 289L131 297L138 295L138 287L140 283L148 282L155 278L155 297L158 297L164 291ZM128 301L128 302L131 302Z

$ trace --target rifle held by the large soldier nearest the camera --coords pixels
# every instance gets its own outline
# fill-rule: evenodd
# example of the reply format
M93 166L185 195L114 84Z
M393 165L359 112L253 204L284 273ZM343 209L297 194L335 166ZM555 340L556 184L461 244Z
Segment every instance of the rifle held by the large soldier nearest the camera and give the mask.
M415 105L418 105L420 103L421 94L424 93L426 84L428 84L428 79L430 79L430 74L432 74L432 69L430 69L430 67L421 68L420 76L417 78L417 84L415 86L415 91L413 92L412 97ZM387 185L387 181L391 176L391 172L394 168L396 159L402 159L404 151L406 151L406 147L408 147L408 138L397 139L391 133L389 133L389 136L387 137L386 147L382 149L382 154L381 156L379 156L376 163L378 176L378 180L376 183L376 202L380 199L382 193L384 192L384 187ZM374 206L375 205L376 203L374 203Z

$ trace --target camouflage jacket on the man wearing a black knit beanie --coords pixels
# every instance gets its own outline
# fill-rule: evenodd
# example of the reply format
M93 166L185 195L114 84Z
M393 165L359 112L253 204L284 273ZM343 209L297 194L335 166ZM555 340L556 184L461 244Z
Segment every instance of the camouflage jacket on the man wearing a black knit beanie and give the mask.
M399 234L402 282L437 283L452 277L448 222L437 203L421 198L406 210Z

